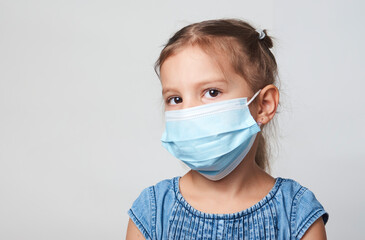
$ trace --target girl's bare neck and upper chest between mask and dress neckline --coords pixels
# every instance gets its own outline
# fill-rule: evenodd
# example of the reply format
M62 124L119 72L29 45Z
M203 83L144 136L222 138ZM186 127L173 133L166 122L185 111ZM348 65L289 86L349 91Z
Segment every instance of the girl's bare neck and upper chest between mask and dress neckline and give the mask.
M259 202L272 189L275 179L256 164L255 145L237 168L221 180L211 181L196 171L184 175L180 191L185 200L209 213L237 212Z

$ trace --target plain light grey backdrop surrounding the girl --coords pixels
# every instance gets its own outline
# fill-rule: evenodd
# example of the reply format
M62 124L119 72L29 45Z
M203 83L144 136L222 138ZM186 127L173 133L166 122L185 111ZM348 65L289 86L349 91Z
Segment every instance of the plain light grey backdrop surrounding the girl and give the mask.
M363 1L0 1L0 239L123 239L141 190L187 170L160 144L153 71L179 28L246 19L276 37L282 106L274 176L360 239Z

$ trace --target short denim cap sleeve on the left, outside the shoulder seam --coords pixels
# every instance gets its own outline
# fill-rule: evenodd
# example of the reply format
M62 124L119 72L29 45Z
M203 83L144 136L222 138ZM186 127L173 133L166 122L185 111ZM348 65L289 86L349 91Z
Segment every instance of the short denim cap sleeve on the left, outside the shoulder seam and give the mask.
M154 239L156 224L156 198L153 186L144 189L128 211L143 236Z

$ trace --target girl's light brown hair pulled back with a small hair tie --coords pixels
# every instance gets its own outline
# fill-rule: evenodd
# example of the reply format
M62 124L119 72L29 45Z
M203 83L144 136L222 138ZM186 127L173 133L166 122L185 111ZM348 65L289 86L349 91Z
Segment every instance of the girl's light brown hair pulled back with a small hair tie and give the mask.
M190 24L168 40L155 63L155 71L159 76L159 70L168 57L184 46L197 45L215 59L223 53L234 71L256 92L266 85L276 83L277 79L276 60L270 51L273 42L266 30L263 33L265 34L260 34L250 24L239 19L217 19ZM268 170L266 136L258 134L257 137L259 144L255 161L262 169Z

